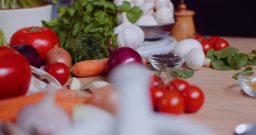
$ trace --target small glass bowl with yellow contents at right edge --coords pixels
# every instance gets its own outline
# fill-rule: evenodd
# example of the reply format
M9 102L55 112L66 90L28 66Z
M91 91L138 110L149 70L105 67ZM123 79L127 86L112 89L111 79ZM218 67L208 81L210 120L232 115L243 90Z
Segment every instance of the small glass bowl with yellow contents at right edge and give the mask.
M238 82L249 96L256 97L256 71L245 71L238 75Z

